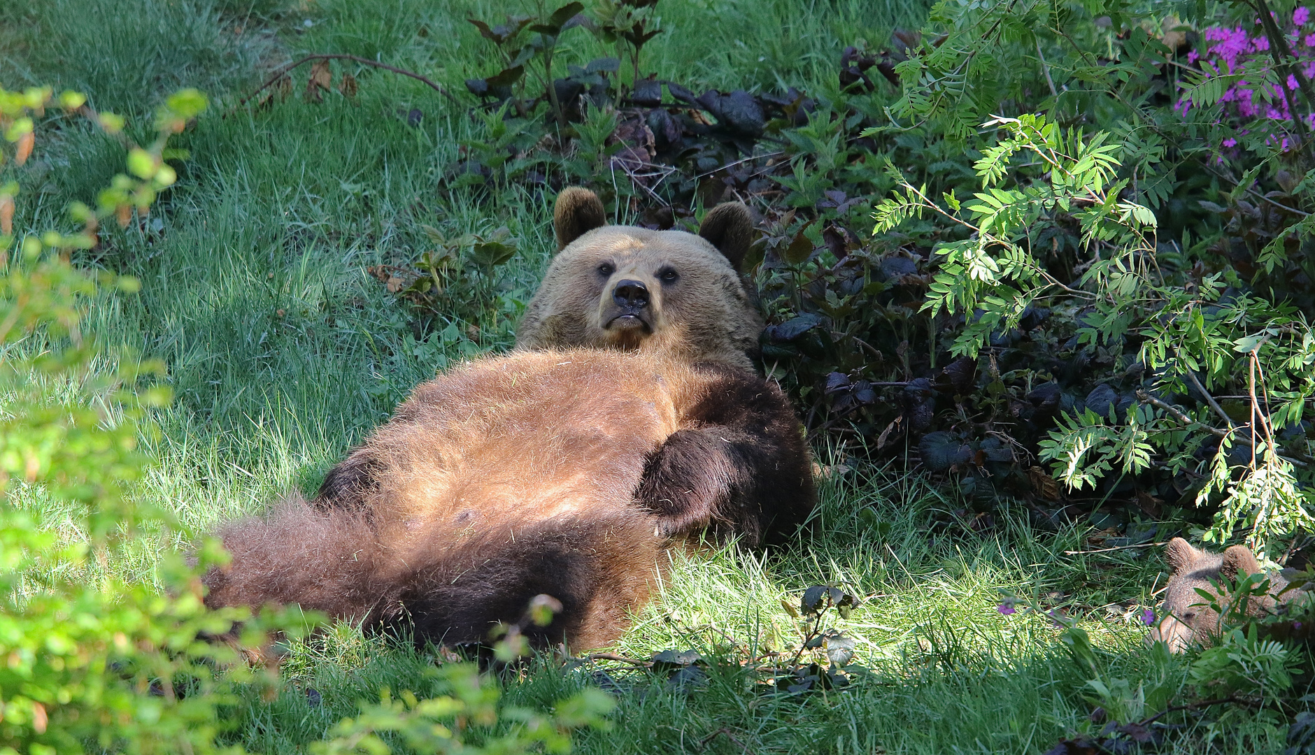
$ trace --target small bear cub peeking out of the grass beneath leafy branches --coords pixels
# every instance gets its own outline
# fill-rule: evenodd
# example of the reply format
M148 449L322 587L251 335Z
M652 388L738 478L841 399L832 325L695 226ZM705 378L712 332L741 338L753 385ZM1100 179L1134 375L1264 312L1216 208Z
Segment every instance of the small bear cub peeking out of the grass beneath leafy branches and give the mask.
M1212 554L1191 547L1191 543L1182 538L1169 541L1164 548L1164 559L1169 564L1169 584L1165 587L1164 604L1160 609L1164 618L1151 630L1151 639L1164 641L1173 652L1182 652L1190 645L1210 645L1219 635L1219 612L1211 608L1211 601L1197 589L1218 596L1211 580L1232 583L1239 576L1262 571L1256 555L1245 546L1230 546L1223 554ZM1286 584L1279 577L1273 577L1270 592L1274 593ZM1215 602L1222 606L1227 598ZM1270 596L1251 597L1247 613L1258 616L1273 610L1274 605L1276 601Z

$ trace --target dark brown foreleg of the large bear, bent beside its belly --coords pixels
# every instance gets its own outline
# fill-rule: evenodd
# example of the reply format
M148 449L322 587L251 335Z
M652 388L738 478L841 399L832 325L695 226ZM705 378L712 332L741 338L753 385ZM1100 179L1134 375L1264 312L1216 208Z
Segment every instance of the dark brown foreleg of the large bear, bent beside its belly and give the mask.
M781 542L813 509L813 464L781 389L750 372L704 367L707 395L648 458L635 500L665 535L713 527L746 545Z

